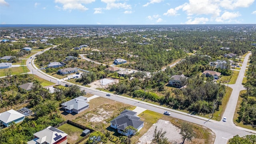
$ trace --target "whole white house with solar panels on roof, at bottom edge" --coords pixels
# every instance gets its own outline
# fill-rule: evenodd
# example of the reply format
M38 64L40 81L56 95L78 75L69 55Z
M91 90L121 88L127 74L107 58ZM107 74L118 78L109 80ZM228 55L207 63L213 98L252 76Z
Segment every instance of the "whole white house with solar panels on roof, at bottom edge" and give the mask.
M27 144L67 144L68 143L68 134L48 126L46 129L34 133L34 139L27 142Z

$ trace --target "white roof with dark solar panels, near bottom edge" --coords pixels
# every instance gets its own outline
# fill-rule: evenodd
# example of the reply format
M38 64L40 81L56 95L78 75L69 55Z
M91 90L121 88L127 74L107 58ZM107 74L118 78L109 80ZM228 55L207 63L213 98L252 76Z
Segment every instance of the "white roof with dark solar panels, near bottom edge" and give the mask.
M57 142L60 138L63 138L67 135L68 134L66 134L65 132L52 126L48 126L46 129L34 133L34 136L38 138L36 142L40 144L42 144L43 142L47 142L48 144L54 144L54 142Z

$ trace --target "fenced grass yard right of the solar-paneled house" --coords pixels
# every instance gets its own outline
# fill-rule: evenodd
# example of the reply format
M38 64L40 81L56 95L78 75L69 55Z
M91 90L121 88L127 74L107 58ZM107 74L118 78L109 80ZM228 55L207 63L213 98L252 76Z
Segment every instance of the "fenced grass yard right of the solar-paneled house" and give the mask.
M74 144L76 143L76 141L81 140L83 138L81 134L84 130L76 126L72 126L71 124L63 124L62 126L59 126L58 129L68 134L68 143L70 144Z

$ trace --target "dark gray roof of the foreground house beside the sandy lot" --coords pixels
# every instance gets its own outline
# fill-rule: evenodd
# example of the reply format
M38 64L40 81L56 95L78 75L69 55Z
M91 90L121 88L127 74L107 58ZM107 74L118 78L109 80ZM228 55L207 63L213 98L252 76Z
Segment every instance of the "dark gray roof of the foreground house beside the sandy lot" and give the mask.
M136 112L124 110L119 116L114 118L111 123L116 124L117 128L124 130L127 126L133 126L138 129L144 122L140 121L140 117L134 116Z

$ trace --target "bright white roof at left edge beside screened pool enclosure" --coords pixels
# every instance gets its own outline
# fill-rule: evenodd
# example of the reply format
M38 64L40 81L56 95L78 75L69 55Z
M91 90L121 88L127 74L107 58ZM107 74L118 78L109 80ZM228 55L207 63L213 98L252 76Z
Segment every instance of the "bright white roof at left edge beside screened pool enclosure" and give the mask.
M8 122L12 122L12 121L22 118L24 116L25 115L11 109L6 112L0 113L0 120L7 124Z

